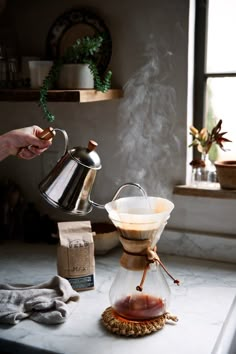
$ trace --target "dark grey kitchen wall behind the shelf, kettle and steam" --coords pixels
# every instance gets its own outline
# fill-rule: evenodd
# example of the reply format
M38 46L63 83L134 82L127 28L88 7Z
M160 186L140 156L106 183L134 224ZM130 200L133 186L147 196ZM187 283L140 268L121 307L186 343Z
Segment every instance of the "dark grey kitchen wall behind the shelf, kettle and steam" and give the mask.
M212 234L235 234L235 201L230 205L223 202L228 205L227 221L230 220L224 227L224 211L217 199L172 195L173 186L184 184L186 175L189 1L11 0L7 16L17 35L20 55L44 57L52 23L65 10L80 5L90 6L107 24L112 36L109 66L113 87L124 89L120 100L50 103L56 115L53 126L67 131L71 147L86 145L89 139L99 144L102 169L92 199L106 203L122 183L137 182L149 195L174 201L169 228L194 230L196 234L198 228L204 233L210 227ZM37 102L1 102L0 109L0 133L31 124L48 126ZM62 149L63 138L58 134L53 146L40 158L8 158L1 162L0 173L17 181L25 198L35 202L42 213L56 220L74 220L78 218L47 205L37 188ZM127 189L126 193L130 195L133 190ZM107 215L94 209L84 217L88 218L104 221Z

